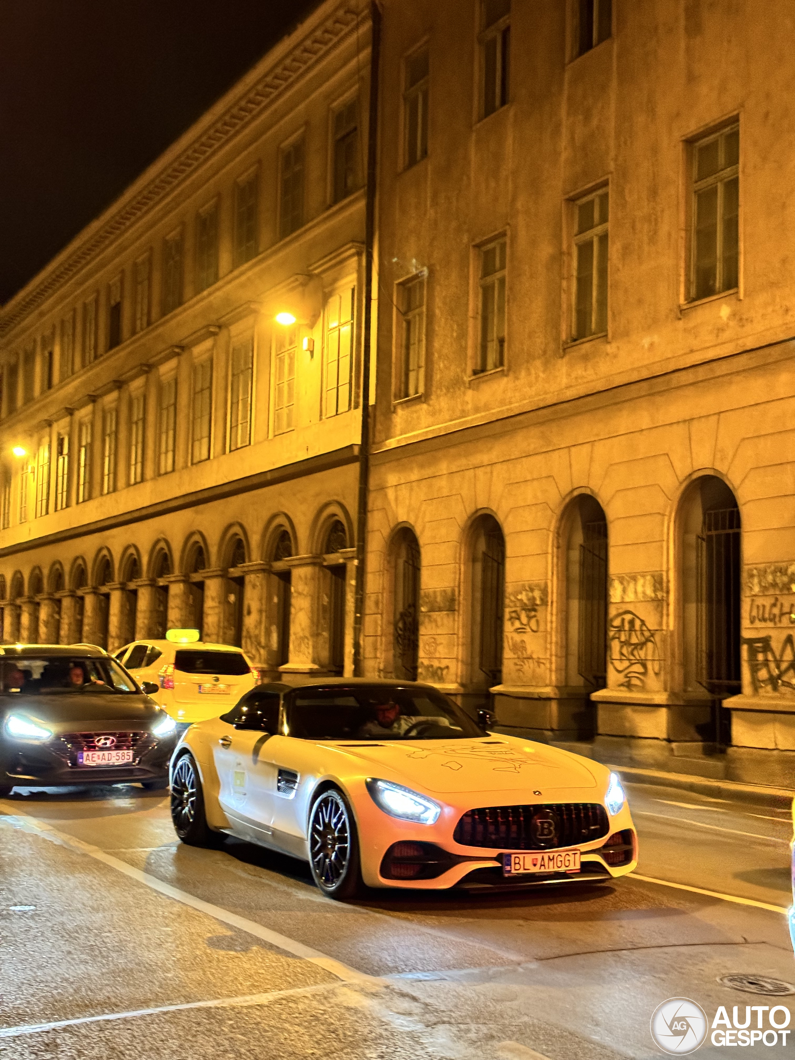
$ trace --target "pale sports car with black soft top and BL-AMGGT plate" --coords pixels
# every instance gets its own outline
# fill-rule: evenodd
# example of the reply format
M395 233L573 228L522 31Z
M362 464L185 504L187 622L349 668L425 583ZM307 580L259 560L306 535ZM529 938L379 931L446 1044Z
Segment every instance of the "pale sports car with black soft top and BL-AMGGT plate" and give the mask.
M637 863L617 774L413 683L258 686L182 735L171 812L183 843L226 832L308 861L332 898L598 883Z

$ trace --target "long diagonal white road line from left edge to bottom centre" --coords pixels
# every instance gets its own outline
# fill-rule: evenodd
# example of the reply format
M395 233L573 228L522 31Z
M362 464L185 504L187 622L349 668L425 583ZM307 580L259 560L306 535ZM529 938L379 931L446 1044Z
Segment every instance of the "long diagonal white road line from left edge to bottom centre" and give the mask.
M359 972L355 968L343 965L341 960L335 960L334 957L330 957L325 953L321 953L319 950L313 950L312 947L304 946L303 942L299 942L297 939L287 938L286 935L281 935L279 932L271 931L269 928L264 928L262 924L257 923L255 920L248 920L246 917L237 916L236 913L224 909L219 905L213 905L211 902L206 902L201 898L189 895L188 891L180 890L179 887L175 887L171 883L164 883L162 880L158 880L156 876L143 872L140 868L135 868L132 865L128 865L127 862L105 853L104 850L100 850L99 847L94 847L90 843L84 843L83 840L77 840L72 835L68 835L66 832L59 832L57 828L53 828L52 825L39 822L30 814L17 811L14 815L3 814L3 816L11 819L13 819L14 816L21 817L25 825L34 828L38 832L41 832L43 835L53 835L60 843L70 847L72 850L75 850L78 853L88 854L89 858L93 858L95 861L102 862L103 865L107 865L109 868L116 869L117 872L122 872L131 880L137 880L139 883L145 884L153 890L157 890L161 895L165 895L166 898L173 898L175 901L181 902L183 905L190 905L192 908L198 909L199 913L206 913L208 916L213 917L215 920L220 920L222 923L229 924L231 928L237 928L240 931L248 932L249 935L253 935L255 938L262 939L263 942L267 942L269 946L273 946L279 950L284 950L285 953L292 953L294 957L301 957L310 964L317 965L318 968L323 968L332 975L336 975L338 979L342 979L346 983L383 984L385 982L375 975L368 975L366 972Z

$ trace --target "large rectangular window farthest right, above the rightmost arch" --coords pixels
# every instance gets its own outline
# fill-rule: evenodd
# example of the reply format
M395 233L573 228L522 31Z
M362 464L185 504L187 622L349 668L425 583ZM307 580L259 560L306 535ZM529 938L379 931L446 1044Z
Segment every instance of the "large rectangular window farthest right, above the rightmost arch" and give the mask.
M705 137L692 153L691 300L739 282L740 127Z

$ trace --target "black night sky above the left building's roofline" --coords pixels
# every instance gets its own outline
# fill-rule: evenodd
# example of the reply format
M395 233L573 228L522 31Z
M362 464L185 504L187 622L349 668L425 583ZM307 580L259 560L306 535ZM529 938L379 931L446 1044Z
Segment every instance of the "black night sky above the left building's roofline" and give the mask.
M317 0L0 0L0 304Z

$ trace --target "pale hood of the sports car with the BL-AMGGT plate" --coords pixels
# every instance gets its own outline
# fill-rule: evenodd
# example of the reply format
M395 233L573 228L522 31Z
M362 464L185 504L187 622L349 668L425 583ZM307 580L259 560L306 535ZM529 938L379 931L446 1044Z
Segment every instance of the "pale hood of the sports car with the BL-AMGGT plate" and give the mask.
M514 737L349 744L344 750L372 767L373 775L386 767L388 779L440 794L537 789L546 795L555 788L597 787L587 759Z

